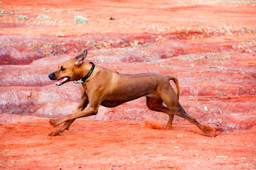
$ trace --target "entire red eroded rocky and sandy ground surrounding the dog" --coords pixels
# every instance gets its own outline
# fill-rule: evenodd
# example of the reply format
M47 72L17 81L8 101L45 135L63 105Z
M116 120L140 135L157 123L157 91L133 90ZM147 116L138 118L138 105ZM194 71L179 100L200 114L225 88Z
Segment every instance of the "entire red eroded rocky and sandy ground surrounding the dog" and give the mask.
M254 1L2 1L0 168L255 169L255 16ZM74 110L81 86L47 74L84 48L113 71L173 74L184 109L221 134L178 117L152 129L168 117L141 98L49 138L48 119Z

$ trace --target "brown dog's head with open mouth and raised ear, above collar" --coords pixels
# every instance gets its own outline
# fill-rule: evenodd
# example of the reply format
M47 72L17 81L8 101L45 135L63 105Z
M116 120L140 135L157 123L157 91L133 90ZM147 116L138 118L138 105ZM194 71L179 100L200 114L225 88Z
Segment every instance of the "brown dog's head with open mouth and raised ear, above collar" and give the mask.
M58 66L58 70L49 74L51 80L57 80L56 85L63 85L68 81L76 81L79 79L77 69L83 64L84 57L87 55L87 50L83 53L74 57L73 59L67 60Z

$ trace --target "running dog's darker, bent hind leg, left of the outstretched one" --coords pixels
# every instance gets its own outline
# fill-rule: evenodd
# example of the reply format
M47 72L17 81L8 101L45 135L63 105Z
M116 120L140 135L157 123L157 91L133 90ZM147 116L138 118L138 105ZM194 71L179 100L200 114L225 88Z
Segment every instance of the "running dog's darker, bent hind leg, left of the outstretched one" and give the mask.
M161 99L156 99L153 97L147 97L147 106L148 109L153 110L153 111L158 111L158 112L163 112L169 115L169 120L166 126L164 126L166 129L172 128L172 121L173 121L173 113L167 108L166 106L163 105L163 101Z

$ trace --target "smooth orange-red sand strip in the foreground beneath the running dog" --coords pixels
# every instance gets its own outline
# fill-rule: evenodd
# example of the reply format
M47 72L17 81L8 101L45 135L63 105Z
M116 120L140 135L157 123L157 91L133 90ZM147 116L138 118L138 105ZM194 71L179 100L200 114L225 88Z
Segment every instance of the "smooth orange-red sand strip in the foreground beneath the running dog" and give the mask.
M202 136L188 122L172 130L131 120L76 120L48 137L47 120L4 124L1 168L9 169L253 169L255 131Z

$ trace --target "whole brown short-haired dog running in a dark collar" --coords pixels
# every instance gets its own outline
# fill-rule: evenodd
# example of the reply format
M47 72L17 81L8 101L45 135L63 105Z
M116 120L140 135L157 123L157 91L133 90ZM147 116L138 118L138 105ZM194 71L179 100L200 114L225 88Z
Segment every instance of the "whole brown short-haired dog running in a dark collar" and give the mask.
M74 59L60 64L57 71L49 74L51 80L58 80L56 85L63 85L68 81L77 81L83 85L81 101L73 113L64 118L49 121L49 124L54 127L65 122L63 127L52 131L49 136L56 136L65 129L68 130L76 118L96 115L100 105L113 108L143 96L147 97L147 106L150 110L169 115L166 127L172 127L173 117L177 115L195 124L204 132L211 131L209 126L199 124L180 106L179 83L175 77L157 73L119 74L95 66L93 63L84 63L86 55L87 50ZM175 82L177 95L170 85L170 80Z

